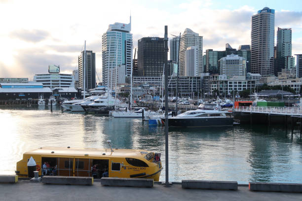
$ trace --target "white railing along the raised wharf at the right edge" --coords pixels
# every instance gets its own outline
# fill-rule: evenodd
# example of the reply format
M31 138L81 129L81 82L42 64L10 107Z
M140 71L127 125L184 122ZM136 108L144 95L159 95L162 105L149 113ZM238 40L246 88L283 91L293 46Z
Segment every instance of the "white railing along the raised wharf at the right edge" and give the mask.
M302 108L300 107L237 106L233 111L302 116Z

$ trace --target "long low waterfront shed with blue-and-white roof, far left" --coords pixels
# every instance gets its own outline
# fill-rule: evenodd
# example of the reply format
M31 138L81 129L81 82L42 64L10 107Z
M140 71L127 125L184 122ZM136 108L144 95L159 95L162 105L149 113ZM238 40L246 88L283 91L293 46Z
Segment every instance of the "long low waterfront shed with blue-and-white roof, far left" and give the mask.
M45 99L52 95L42 83L0 83L0 100L38 99L41 95Z

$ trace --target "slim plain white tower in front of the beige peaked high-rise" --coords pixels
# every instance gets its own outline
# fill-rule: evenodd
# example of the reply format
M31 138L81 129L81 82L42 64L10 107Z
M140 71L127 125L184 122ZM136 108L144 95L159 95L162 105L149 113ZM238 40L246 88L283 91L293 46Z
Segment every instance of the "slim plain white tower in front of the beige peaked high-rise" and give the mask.
M188 47L185 52L185 76L198 76L198 47Z

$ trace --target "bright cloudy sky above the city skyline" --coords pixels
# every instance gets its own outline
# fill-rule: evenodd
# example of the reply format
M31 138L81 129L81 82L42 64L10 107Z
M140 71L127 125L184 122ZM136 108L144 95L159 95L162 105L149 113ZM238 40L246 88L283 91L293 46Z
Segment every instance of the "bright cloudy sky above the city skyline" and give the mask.
M264 7L275 9L275 38L278 27L292 28L292 54L302 54L301 0L0 0L0 77L32 80L50 64L72 73L86 40L102 79L102 35L109 24L128 24L130 13L133 48L163 37L165 25L169 38L186 28L202 35L203 52L238 48L251 43L251 16Z

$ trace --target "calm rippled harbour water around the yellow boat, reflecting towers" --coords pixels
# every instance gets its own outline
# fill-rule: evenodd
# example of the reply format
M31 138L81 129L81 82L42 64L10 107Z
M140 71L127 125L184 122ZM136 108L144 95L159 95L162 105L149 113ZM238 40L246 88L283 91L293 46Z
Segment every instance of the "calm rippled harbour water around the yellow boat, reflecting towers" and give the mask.
M0 107L0 174L14 173L25 151L41 146L147 149L162 153L163 127L141 119L44 108ZM170 129L169 179L302 182L302 141L282 127ZM165 170L160 181L165 180Z

